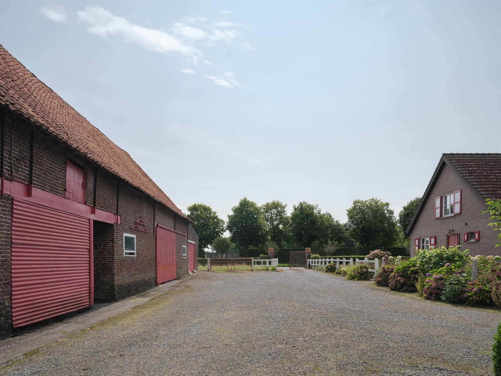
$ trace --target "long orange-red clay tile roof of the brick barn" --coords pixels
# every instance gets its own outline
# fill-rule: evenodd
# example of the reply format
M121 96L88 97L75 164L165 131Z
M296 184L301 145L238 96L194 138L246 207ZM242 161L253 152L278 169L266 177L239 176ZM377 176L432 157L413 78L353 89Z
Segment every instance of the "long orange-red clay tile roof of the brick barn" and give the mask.
M39 125L99 165L186 216L131 156L89 123L0 45L0 103Z

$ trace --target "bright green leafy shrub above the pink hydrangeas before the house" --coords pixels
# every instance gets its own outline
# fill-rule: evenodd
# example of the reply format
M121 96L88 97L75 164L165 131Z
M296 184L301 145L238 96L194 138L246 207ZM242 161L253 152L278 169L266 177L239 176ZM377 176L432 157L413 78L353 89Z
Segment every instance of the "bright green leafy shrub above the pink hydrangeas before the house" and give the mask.
M459 247L437 247L435 249L423 249L417 251L417 264L426 273L434 269L439 269L446 263L450 263L458 268L462 268L469 261L468 250L461 251Z

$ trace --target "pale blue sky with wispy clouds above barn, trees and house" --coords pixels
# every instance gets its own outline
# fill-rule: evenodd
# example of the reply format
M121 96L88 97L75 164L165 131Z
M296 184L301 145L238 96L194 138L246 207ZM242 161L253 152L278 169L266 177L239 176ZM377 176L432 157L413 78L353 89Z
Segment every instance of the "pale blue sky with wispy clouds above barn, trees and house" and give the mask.
M400 208L501 151L501 2L0 3L0 43L185 211Z

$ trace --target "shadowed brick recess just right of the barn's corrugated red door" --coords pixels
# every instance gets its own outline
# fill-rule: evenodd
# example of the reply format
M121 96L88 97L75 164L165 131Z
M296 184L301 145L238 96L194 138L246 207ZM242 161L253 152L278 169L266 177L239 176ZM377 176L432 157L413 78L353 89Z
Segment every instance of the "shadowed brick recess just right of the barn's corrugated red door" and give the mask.
M94 223L94 301L115 299L115 228L110 223Z

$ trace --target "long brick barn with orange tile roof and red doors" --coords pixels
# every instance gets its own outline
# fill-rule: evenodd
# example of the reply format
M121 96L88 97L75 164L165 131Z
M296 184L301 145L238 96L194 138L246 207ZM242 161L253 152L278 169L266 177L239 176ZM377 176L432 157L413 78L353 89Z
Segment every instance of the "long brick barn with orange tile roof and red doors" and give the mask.
M190 220L3 46L0 127L0 337L197 269Z

